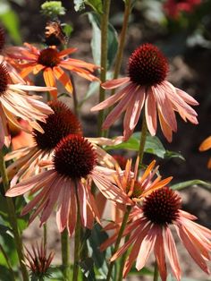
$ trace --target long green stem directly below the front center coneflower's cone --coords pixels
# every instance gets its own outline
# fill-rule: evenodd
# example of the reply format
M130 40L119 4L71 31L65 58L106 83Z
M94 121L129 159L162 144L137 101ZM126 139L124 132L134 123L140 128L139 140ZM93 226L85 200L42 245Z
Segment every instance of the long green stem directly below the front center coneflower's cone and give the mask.
M80 202L79 197L76 192L77 197L77 222L75 226L75 244L74 244L74 264L73 264L73 276L72 281L78 281L79 274L79 261L80 261Z

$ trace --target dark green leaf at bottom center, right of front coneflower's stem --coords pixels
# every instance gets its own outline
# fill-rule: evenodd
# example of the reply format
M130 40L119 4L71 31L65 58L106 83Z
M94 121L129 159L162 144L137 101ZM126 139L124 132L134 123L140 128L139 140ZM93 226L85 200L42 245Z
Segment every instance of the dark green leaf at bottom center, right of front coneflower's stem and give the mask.
M105 240L108 238L108 235L103 230L102 226L99 226L96 224L93 229L91 230L89 239L88 239L88 251L89 251L89 257L92 258L92 260L95 263L95 266L98 270L98 272L102 275L102 277L106 277L107 271L108 271L108 265L106 260L110 259L112 256L112 249L111 247L108 247L106 251L99 251L99 246L105 242ZM114 268L114 274L115 274L115 268ZM114 276L111 278L114 279Z

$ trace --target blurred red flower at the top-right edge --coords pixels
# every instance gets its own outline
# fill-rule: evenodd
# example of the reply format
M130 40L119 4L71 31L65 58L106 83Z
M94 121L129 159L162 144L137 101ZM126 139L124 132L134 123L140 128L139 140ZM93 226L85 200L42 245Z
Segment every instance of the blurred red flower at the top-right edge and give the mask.
M201 4L201 0L167 0L164 10L170 18L176 19L181 12L192 13L198 4Z

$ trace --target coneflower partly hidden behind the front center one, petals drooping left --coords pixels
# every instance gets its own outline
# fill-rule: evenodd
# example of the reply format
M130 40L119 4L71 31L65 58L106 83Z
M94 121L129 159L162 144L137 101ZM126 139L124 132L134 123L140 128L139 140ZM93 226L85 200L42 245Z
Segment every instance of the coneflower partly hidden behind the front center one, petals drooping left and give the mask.
M32 130L33 142L29 147L14 150L4 157L5 161L15 158L15 161L7 167L7 175L12 179L11 185L22 178L34 175L38 170L40 160L50 158L55 146L69 134L82 134L81 124L78 118L72 114L72 110L59 100L48 102L48 106L54 111L48 115L46 123L38 122L43 133Z

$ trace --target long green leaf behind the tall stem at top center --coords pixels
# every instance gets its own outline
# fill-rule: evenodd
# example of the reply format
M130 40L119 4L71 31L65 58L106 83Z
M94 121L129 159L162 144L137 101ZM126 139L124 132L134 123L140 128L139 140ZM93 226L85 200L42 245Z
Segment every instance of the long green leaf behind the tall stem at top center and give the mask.
M92 55L95 64L100 65L101 52L101 30L100 30L100 16L97 13L88 13L89 21L92 25L93 36L91 40ZM108 24L108 38L107 38L107 69L110 69L118 48L117 32L114 27Z

